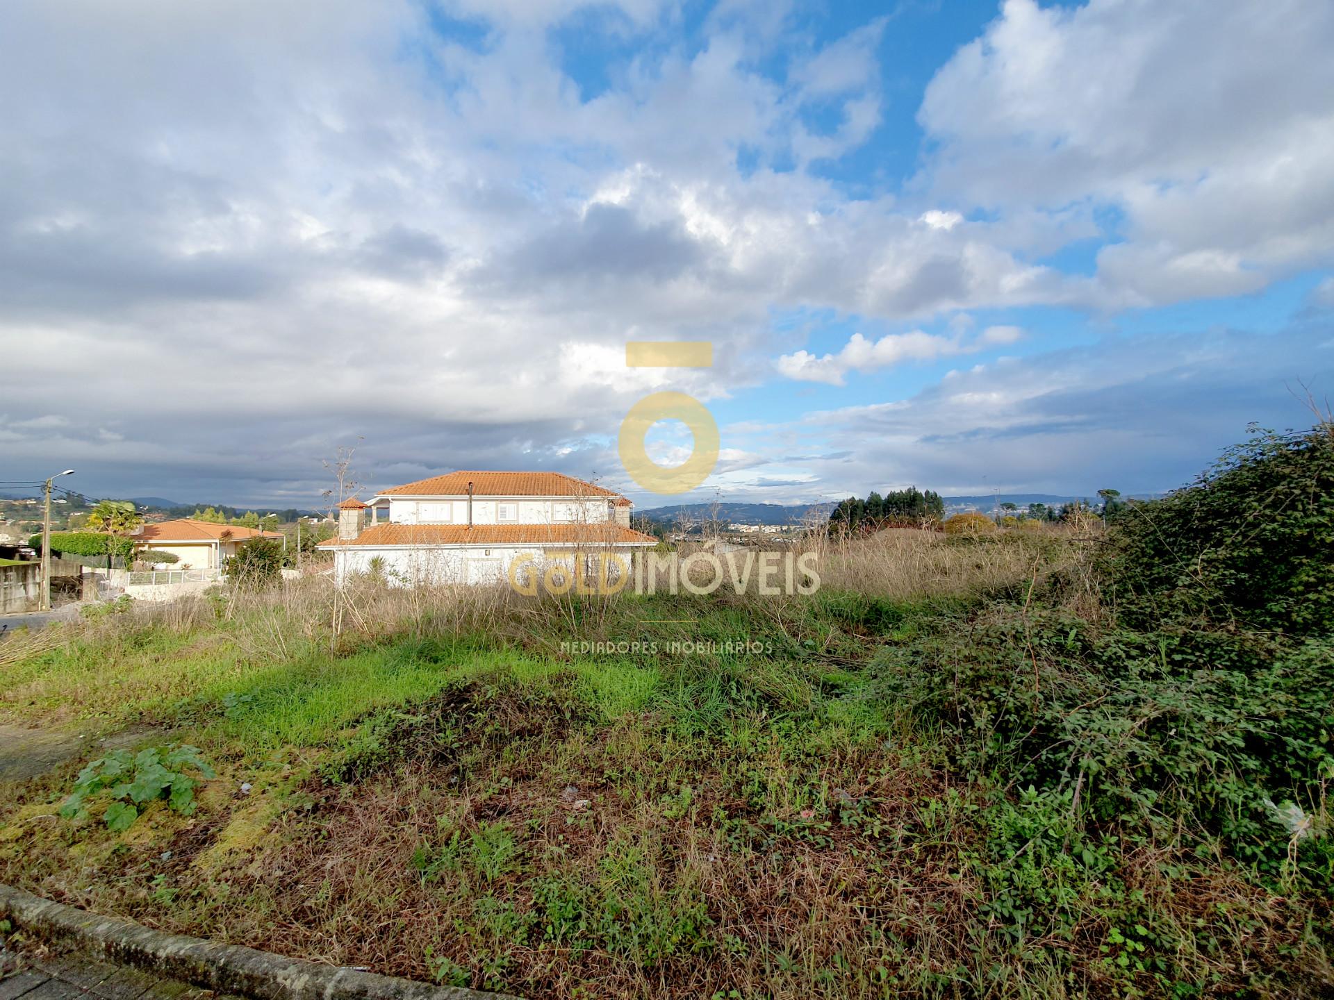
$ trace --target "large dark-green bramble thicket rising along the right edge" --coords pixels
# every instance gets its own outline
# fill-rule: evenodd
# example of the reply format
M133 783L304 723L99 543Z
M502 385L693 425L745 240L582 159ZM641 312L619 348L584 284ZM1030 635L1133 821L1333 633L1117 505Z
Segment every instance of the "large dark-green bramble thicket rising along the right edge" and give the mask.
M1002 927L1069 933L1107 844L1221 847L1262 881L1334 889L1331 553L1334 431L1255 431L1119 517L1082 581L882 652L870 693L994 789ZM1081 617L1063 597L1089 575L1105 608ZM1153 972L1161 935L1127 920L1114 964Z

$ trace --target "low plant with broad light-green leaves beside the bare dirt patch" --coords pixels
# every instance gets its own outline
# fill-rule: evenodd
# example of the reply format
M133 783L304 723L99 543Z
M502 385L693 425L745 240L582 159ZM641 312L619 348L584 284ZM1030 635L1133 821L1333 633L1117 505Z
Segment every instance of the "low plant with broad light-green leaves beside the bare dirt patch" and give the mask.
M129 829L148 803L165 799L168 808L188 816L195 811L195 789L203 779L217 777L197 747L148 747L131 755L112 751L79 772L73 792L60 807L65 819L87 815L89 800L103 792L111 799L103 813L113 832Z

